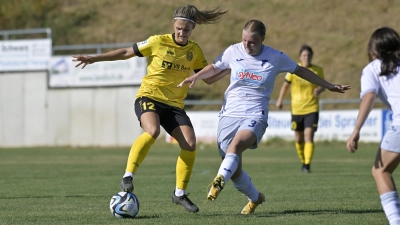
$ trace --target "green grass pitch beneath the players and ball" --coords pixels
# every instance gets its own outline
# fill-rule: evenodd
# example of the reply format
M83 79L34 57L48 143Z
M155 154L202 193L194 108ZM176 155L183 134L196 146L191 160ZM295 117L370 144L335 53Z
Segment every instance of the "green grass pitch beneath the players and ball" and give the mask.
M311 174L300 172L293 143L245 152L243 167L266 202L244 216L247 199L231 181L203 204L221 162L214 145L199 144L188 188L200 212L172 204L179 149L156 143L134 179L135 219L109 210L129 148L0 149L0 224L387 224L370 173L377 146L350 154L344 143L317 143Z

